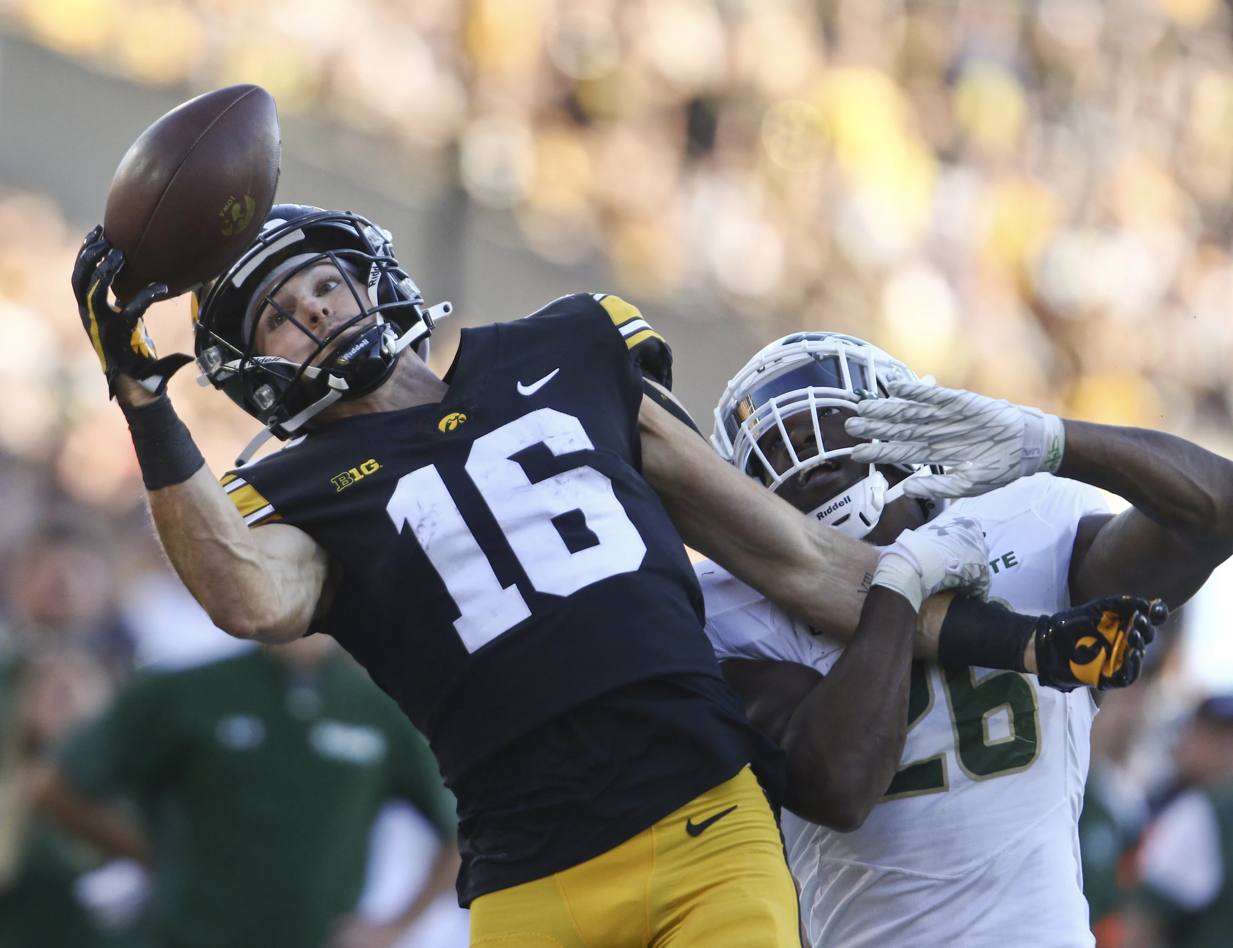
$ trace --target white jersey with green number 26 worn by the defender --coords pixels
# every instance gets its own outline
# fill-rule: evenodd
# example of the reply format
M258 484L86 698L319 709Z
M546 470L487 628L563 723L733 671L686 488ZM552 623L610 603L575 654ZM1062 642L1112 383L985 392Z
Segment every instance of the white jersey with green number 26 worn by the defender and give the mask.
M981 520L993 590L1016 611L1069 607L1079 519L1100 493L1039 473L951 510ZM841 641L815 635L711 562L695 566L719 658L827 672ZM903 763L856 832L784 812L801 912L820 948L1071 948L1094 943L1079 812L1095 703L1031 676L916 662Z

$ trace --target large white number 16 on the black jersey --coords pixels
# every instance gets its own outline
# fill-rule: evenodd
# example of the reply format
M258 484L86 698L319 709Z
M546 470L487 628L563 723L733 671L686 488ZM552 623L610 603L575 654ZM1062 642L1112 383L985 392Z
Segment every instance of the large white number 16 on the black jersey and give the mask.
M554 455L594 450L573 415L540 408L471 445L466 472L483 496L528 579L538 592L570 595L642 565L646 544L613 492L612 481L586 465L531 483L513 460L538 444ZM423 547L459 609L454 629L469 652L529 618L517 586L502 587L435 465L398 480L386 513ZM582 518L594 541L571 551L559 526Z

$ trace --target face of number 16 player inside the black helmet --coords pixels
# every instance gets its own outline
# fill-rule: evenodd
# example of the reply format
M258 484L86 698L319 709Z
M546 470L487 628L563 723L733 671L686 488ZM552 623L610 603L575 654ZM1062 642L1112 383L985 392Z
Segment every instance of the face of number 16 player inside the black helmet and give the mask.
M355 285L354 277L351 284ZM324 339L363 312L346 280L329 261L295 274L274 293L274 302L277 306L264 303L258 313L256 351L291 362L305 361L317 349L317 341L308 333ZM356 323L356 327L369 322L371 318ZM321 362L329 351L318 355L313 362Z

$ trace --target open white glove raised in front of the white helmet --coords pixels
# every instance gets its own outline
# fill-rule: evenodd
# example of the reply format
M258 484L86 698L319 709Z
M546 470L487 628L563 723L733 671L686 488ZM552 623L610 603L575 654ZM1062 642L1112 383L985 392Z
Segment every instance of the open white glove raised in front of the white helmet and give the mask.
M857 464L940 464L946 473L912 475L909 497L975 497L1062 464L1065 428L1054 414L962 388L889 382L891 398L858 402L845 428L877 438L852 451Z

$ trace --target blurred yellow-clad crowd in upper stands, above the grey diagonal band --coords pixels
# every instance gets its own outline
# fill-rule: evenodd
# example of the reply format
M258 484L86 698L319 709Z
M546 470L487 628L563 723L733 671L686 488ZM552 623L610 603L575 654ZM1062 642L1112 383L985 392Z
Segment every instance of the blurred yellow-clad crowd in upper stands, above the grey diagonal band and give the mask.
M1231 443L1221 0L0 7L141 83L258 81L285 116L386 136L635 297Z

